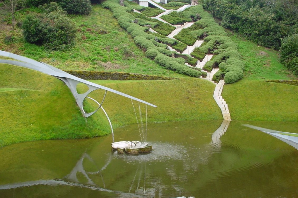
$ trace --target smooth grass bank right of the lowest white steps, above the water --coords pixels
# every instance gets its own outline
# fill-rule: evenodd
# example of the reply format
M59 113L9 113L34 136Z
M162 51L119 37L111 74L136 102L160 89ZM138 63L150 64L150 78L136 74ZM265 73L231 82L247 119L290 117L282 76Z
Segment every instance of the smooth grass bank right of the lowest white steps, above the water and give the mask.
M298 121L298 86L243 79L222 96L233 120Z

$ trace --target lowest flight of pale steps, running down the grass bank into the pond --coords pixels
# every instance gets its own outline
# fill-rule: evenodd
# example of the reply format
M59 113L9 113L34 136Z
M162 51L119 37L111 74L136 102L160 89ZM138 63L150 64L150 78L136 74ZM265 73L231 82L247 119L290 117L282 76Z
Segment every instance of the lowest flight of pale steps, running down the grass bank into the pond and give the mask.
M229 107L224 101L224 98L221 96L221 92L224 88L224 80L220 80L215 86L215 90L213 92L213 98L216 101L217 105L221 109L221 113L223 115L224 120L231 120Z

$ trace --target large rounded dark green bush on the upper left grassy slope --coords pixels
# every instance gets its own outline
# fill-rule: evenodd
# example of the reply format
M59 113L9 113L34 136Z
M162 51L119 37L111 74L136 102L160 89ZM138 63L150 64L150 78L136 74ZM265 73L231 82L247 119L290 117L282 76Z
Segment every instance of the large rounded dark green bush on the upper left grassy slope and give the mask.
M49 14L28 15L22 28L26 41L42 44L46 49L63 50L74 45L74 23L61 10Z

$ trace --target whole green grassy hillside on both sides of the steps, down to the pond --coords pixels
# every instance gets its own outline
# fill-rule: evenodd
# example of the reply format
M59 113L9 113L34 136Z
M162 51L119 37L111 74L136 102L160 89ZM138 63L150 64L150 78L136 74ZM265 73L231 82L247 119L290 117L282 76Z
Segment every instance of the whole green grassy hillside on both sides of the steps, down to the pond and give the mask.
M19 11L30 12L30 9ZM34 11L34 10L31 10ZM3 17L3 16L2 16ZM94 5L90 16L71 16L80 29L76 47L65 52L46 51L23 41L21 30L0 24L0 49L46 62L60 69L105 70L178 77L169 81L93 81L157 105L148 106L148 122L221 120L213 100L215 85L166 70L146 58L130 35L119 27L111 11ZM104 20L103 20L104 19ZM3 20L2 20L3 21ZM88 29L90 28L91 31ZM99 34L100 30L106 34ZM15 40L4 42L13 35ZM86 39L84 39L85 37ZM298 121L298 86L266 80L297 79L278 63L277 52L231 34L246 64L245 77L224 86L223 97L232 120ZM98 111L86 120L64 83L54 77L17 66L0 64L0 147L32 140L86 138L110 133ZM83 90L84 87L80 86ZM101 101L101 91L90 97ZM114 127L136 123L130 99L108 93L103 107ZM139 116L139 104L134 102ZM94 109L86 103L86 109ZM145 119L146 107L140 105Z

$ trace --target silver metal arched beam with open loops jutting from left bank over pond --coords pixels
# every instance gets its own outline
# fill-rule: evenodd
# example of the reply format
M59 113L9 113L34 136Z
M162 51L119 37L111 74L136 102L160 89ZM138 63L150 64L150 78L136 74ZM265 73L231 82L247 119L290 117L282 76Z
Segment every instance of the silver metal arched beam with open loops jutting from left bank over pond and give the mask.
M73 76L69 73L66 73L66 72L64 72L64 71L62 71L62 70L60 70L56 67L53 67L53 66L51 66L49 64L46 64L46 63L43 63L43 62L38 62L38 61L35 61L33 59L26 58L24 56L16 55L16 54L1 51L1 50L0 50L0 56L9 57L9 58L13 58L15 60L18 60L18 61L15 61L15 60L8 60L8 59L0 59L0 63L11 64L11 65L16 65L16 66L26 67L26 68L29 68L29 69L34 69L36 71L42 72L44 74L52 75L52 76L62 80L68 86L68 88L72 92L72 95L75 97L75 100L76 100L76 102L77 102L77 104L78 104L78 106L79 106L79 108L80 108L80 110L81 110L84 117L89 117L89 116L93 115L101 107L101 105L103 103L103 101L102 101L102 103L100 104L100 107L94 112L86 113L84 111L84 109L83 109L83 100L88 96L88 94L90 92L92 92L96 89L104 89L106 92L107 91L113 92L113 93L116 93L118 95L122 95L126 98L130 98L132 100L136 100L136 101L139 101L141 103L145 103L147 105L156 107L156 105L148 103L148 102L146 102L144 100L141 100L139 98L135 98L131 95L127 95L125 93L116 91L114 89L110 89L108 87L101 86L101 85L98 85L96 83L86 81L84 79ZM86 84L86 86L89 87L89 90L87 92L85 92L84 94L77 93L76 87L77 87L78 83ZM96 101L96 100L94 100L94 101Z

